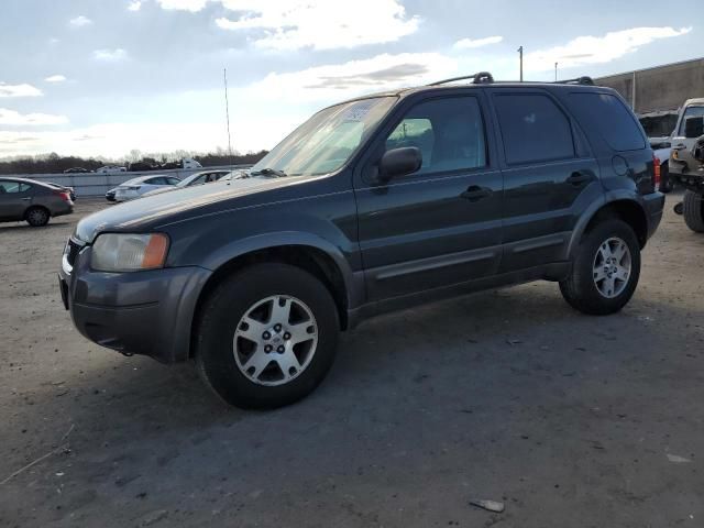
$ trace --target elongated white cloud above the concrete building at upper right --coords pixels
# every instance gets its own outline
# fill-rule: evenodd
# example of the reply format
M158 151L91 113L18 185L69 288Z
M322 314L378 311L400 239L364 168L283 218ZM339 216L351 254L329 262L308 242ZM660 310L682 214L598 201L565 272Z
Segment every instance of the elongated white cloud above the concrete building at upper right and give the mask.
M603 36L578 36L563 46L528 53L525 57L526 69L547 72L554 67L554 63L560 63L562 68L608 63L659 38L681 36L690 31L692 28L632 28Z

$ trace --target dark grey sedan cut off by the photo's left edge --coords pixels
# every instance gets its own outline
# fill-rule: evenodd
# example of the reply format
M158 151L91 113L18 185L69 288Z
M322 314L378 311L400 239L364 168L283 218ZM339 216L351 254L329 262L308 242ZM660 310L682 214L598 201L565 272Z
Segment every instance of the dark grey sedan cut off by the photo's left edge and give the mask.
M26 178L0 177L0 221L26 221L46 226L50 218L70 215L74 202L68 190Z

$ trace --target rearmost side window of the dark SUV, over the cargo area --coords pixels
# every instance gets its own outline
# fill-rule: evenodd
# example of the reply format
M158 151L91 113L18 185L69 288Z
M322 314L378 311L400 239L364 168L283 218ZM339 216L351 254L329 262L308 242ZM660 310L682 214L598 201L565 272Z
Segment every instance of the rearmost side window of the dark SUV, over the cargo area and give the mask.
M646 140L630 110L609 94L570 94L572 111L587 130L600 134L615 151L645 148Z

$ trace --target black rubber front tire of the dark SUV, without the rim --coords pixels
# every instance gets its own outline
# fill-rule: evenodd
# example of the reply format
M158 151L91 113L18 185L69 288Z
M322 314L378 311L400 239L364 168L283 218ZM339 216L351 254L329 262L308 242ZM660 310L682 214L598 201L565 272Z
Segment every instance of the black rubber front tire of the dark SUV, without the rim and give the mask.
M280 385L260 385L238 366L233 340L243 316L271 296L293 297L310 309L317 323L317 346L302 371ZM196 330L196 365L202 380L228 404L271 409L311 393L334 360L340 322L328 288L311 274L287 264L260 264L226 279L205 301ZM277 364L271 363L270 369ZM266 369L264 370L266 371Z

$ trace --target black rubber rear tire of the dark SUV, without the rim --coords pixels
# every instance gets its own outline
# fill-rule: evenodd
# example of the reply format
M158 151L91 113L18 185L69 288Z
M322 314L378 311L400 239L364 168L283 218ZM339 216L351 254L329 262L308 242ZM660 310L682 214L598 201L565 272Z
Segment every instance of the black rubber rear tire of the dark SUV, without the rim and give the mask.
M630 252L630 274L625 287L615 297L602 295L594 280L594 262L602 245L609 239L620 239ZM572 261L572 273L560 283L564 299L576 310L593 316L619 311L630 300L640 277L640 244L632 228L619 219L606 219L586 232Z

